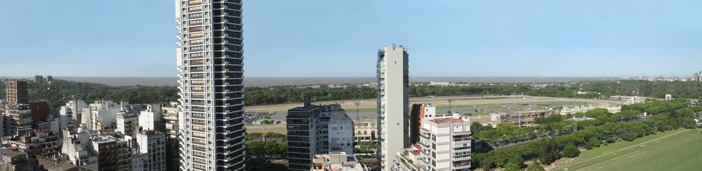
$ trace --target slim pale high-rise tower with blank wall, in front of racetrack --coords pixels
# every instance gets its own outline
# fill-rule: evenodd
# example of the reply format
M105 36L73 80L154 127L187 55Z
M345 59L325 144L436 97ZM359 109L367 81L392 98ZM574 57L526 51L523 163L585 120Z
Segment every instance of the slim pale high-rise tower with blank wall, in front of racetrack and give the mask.
M409 54L403 46L378 51L378 155L380 169L409 142Z

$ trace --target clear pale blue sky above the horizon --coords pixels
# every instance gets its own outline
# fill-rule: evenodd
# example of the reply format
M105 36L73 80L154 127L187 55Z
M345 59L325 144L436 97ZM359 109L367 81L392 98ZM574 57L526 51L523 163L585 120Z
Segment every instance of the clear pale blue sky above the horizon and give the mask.
M172 0L0 0L0 76L176 76ZM246 76L688 76L699 0L244 0Z

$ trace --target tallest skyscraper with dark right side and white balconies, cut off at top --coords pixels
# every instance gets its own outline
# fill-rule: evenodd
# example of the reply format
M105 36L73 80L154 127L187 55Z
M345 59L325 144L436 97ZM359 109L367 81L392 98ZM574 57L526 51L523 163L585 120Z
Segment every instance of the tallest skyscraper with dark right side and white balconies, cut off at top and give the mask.
M176 0L180 170L245 170L241 0Z

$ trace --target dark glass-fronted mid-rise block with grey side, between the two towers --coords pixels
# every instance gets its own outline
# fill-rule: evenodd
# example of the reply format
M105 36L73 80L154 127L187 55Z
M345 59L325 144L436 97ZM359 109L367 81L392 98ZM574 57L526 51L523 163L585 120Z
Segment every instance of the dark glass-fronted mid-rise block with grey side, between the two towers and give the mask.
M305 98L303 107L288 110L289 170L310 170L315 154L353 154L354 123L340 104L317 106Z

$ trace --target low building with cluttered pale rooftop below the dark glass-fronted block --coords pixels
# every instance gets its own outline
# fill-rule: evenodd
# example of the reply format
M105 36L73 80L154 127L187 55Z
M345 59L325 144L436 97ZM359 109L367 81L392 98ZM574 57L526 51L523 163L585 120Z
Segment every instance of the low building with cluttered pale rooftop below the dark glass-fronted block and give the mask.
M310 171L366 171L356 156L345 152L314 155Z

